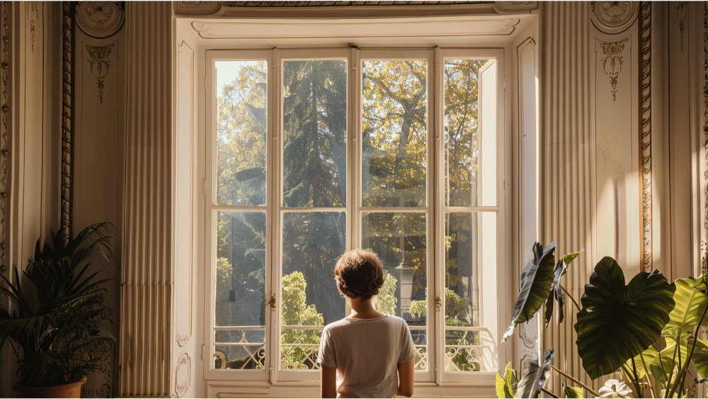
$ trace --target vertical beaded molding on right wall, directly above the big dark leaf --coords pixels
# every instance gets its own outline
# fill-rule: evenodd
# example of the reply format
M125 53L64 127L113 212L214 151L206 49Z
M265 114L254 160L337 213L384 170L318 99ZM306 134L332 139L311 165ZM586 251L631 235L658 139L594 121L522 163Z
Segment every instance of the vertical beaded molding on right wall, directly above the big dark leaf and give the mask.
M651 2L639 10L639 148L641 171L641 266L651 271Z

